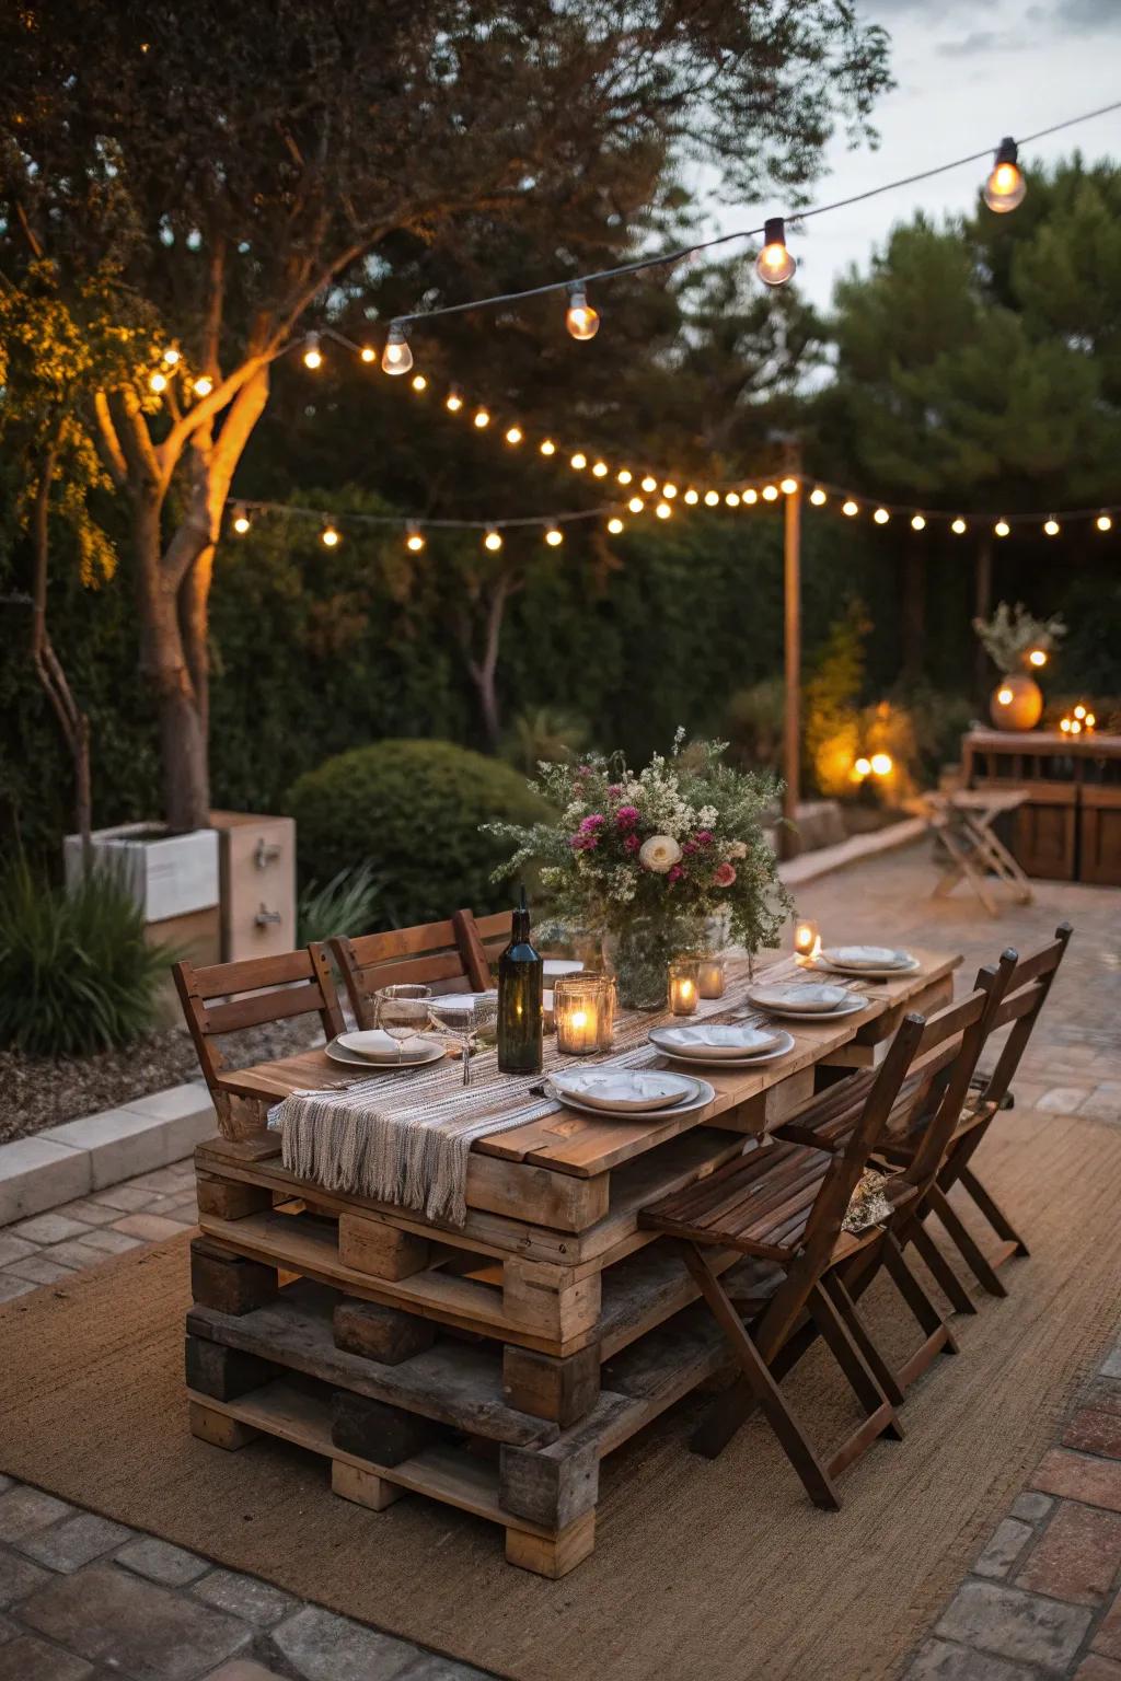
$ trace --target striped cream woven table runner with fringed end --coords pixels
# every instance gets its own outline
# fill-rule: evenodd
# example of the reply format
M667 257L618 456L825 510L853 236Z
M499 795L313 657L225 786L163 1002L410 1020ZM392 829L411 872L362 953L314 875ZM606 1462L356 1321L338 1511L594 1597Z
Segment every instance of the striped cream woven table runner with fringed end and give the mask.
M766 973L775 978L788 970L795 972L793 960L770 965ZM746 958L729 962L724 997L701 1000L689 1020L743 1017L748 985ZM682 1019L667 1012L622 1012L613 1049L580 1061L649 1067L660 1059L649 1044L650 1027L671 1022ZM573 1061L560 1054L555 1037L546 1037L539 1074L501 1074L497 1052L491 1049L472 1059L469 1086L462 1084L459 1062L447 1059L400 1074L360 1076L324 1091L291 1093L269 1111L269 1126L281 1133L281 1160L297 1178L462 1225L467 1157L476 1140L561 1109L539 1088L550 1072Z

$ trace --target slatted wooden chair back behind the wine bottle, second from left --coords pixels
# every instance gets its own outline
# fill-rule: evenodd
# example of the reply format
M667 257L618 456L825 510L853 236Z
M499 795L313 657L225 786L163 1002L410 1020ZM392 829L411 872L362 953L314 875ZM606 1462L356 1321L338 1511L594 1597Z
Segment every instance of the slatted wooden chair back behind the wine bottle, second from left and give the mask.
M477 918L455 911L442 923L390 928L356 940L334 938L326 948L339 967L355 1020L373 1027L373 995L380 987L408 982L437 992L486 992L491 987L491 950L509 940L509 913ZM313 946L323 951L323 946Z

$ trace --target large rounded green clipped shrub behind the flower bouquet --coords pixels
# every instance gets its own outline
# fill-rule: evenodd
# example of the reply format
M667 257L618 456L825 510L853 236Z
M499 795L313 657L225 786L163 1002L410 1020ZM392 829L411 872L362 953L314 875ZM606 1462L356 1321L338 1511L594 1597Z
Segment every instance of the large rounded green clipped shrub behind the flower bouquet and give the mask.
M531 824L548 809L496 758L452 741L375 741L306 772L287 797L304 881L370 864L383 883L383 920L439 921L461 906L496 911L511 889L491 872L509 856L479 832L501 819Z

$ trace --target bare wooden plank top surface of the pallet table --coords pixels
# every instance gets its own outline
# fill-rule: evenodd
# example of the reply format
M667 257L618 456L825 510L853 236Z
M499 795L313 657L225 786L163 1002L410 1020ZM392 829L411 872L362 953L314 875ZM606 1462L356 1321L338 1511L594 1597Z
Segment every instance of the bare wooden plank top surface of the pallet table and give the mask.
M605 1173L686 1130L703 1126L706 1121L713 1121L716 1116L738 1108L741 1103L756 1098L771 1086L782 1084L792 1074L824 1061L854 1041L879 1037L876 1024L881 1024L884 1032L894 1030L906 1005L921 993L929 992L934 983L945 982L961 963L961 956L956 953L931 951L918 946L911 950L919 967L899 978L876 982L874 985L866 983L871 987L866 1009L847 1015L844 1020L785 1020L778 1024L787 1027L795 1041L787 1056L775 1062L766 1062L760 1069L716 1069L706 1066L699 1071L716 1093L713 1101L701 1109L691 1109L677 1118L605 1116L598 1120L556 1108L553 1113L511 1131L479 1138L472 1148L481 1155L497 1157L504 1162L524 1162L533 1167L573 1173L582 1178ZM756 965L756 978L776 967L790 968L790 956L785 953L763 953ZM882 1020L884 1017L889 1020ZM660 1020L660 1015L652 1015L650 1025ZM220 1084L239 1098L255 1099L266 1106L277 1103L292 1091L308 1091L338 1083L341 1072L339 1064L333 1062L318 1047L303 1051L297 1056L279 1057L274 1062L259 1062L254 1067L222 1072Z

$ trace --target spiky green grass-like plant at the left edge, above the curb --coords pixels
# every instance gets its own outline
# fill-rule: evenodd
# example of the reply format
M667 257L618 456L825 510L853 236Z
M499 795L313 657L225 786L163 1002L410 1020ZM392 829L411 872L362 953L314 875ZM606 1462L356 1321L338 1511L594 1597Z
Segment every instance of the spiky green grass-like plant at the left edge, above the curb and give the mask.
M173 956L148 945L111 869L67 893L17 859L0 881L0 1046L59 1057L129 1044L156 1024Z

